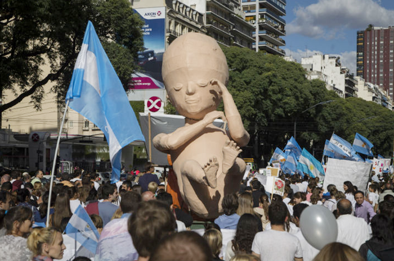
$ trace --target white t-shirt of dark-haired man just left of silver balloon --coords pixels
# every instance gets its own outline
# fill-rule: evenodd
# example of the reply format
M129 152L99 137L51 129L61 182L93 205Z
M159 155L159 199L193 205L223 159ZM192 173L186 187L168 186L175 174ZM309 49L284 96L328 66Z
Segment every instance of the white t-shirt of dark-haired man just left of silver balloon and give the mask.
M261 261L294 261L302 258L298 238L286 231L265 230L255 235L252 251L260 255Z

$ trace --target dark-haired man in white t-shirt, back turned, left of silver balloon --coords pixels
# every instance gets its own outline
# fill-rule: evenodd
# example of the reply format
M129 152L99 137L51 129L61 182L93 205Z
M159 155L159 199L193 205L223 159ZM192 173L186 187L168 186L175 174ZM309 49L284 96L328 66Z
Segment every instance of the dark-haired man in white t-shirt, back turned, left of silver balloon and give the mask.
M285 231L287 207L274 202L268 207L271 229L258 232L252 243L252 254L261 261L302 261L302 248L298 238Z

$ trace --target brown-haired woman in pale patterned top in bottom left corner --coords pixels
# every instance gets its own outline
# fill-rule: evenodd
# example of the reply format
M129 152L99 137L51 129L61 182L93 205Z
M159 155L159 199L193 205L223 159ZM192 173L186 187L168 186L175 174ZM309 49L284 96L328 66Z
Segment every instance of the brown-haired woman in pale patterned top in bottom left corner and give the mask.
M26 247L26 236L32 230L33 212L25 206L12 207L3 218L6 235L0 239L0 260L27 261L32 253Z

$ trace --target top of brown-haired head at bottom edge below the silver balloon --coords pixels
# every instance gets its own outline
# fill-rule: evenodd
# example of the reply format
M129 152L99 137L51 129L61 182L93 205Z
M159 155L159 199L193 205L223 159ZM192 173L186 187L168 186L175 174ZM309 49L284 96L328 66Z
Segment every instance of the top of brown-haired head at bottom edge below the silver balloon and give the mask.
M365 261L359 252L348 245L333 242L327 244L313 261Z

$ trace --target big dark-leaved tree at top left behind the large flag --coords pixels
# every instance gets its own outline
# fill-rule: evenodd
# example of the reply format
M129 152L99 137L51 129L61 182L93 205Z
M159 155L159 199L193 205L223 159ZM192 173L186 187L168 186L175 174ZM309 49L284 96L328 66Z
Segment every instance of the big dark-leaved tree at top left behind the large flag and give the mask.
M0 8L0 95L7 89L16 94L0 106L0 115L29 96L40 109L49 81L64 99L89 20L127 88L143 46L143 22L128 0L3 0Z

